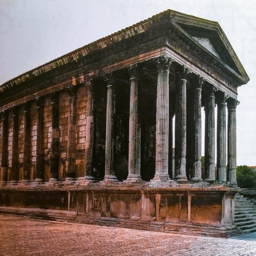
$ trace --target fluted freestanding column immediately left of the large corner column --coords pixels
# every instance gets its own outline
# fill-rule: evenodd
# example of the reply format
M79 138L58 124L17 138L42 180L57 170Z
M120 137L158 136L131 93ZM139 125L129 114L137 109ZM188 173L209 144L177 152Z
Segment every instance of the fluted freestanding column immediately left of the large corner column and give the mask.
M131 77L130 122L129 122L129 175L126 181L141 181L140 176L140 122L138 111L138 67L129 68Z

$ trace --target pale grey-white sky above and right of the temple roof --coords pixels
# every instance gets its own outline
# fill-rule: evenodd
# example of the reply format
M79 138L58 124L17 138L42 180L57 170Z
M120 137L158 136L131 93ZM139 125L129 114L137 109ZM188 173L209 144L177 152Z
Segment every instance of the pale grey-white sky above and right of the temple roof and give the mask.
M0 84L167 9L217 21L240 58L237 163L256 165L255 0L0 0Z

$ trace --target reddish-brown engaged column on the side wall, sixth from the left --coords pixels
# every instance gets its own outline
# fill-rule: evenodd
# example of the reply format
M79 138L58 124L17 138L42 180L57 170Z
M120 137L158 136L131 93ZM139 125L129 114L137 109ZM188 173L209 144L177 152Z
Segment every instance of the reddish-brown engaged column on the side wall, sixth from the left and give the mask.
M68 88L69 95L69 117L68 117L68 148L67 148L67 160L68 160L68 172L66 182L73 182L76 176L76 111L75 111L75 99L76 89L74 86Z

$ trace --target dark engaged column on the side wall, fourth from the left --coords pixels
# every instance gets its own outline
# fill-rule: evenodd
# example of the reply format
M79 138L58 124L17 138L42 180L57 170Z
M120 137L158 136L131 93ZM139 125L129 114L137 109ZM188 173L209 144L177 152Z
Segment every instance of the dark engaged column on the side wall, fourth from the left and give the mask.
M41 182L44 178L44 154L42 131L44 128L44 100L36 99L37 126L36 126L36 182Z

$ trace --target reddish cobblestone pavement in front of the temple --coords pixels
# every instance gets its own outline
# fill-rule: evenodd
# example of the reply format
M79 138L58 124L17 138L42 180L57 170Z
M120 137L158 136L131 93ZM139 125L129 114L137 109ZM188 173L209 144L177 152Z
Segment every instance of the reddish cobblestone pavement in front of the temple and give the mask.
M0 215L0 255L256 255L256 232L222 239Z

